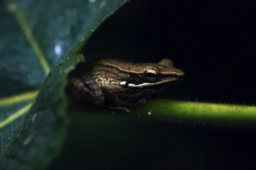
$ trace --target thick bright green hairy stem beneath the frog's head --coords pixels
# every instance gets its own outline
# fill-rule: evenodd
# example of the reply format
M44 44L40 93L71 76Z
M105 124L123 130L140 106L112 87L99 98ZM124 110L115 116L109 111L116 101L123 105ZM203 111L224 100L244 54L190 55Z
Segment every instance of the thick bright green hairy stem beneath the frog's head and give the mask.
M202 124L256 124L256 106L149 100L144 106L133 109L131 114L145 118L173 119Z

